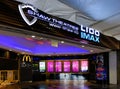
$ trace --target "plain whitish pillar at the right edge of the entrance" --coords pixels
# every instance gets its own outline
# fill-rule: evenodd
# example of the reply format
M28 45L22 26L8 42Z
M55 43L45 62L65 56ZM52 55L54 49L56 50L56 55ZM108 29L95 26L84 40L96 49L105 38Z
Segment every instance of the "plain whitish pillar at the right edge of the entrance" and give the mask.
M117 84L117 52L109 52L109 83Z

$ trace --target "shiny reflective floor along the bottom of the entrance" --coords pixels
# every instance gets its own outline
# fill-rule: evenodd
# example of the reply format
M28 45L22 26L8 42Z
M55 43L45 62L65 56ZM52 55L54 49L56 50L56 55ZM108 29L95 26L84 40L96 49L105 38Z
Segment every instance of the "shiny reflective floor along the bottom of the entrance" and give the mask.
M117 85L98 85L88 81L47 80L44 82L21 83L3 86L0 89L120 89Z

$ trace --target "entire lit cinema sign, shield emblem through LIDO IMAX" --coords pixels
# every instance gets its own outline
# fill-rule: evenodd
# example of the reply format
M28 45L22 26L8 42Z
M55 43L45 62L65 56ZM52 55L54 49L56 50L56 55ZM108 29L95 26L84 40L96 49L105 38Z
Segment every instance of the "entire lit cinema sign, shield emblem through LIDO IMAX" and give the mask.
M97 43L100 42L100 32L98 30L84 27L83 25L79 27L79 25L76 25L75 23L46 14L30 4L21 4L18 5L18 8L22 18L30 26L35 24L39 19L40 21L43 21L45 23L45 26L49 27L50 29L60 29L69 33L73 33L74 36L80 37L85 40ZM26 12L24 12L23 9L26 9L24 10ZM33 19L29 20L26 14L28 14L27 16L31 16Z

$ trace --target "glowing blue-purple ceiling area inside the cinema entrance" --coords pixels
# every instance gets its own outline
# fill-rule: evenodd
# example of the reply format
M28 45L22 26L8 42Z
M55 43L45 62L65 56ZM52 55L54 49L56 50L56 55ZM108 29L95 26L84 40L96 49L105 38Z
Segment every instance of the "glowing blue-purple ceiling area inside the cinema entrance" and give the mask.
M0 34L0 47L12 50L29 52L32 54L82 54L89 53L88 50L76 46L59 43L58 47L53 47L49 43L37 44L24 37L6 36Z

